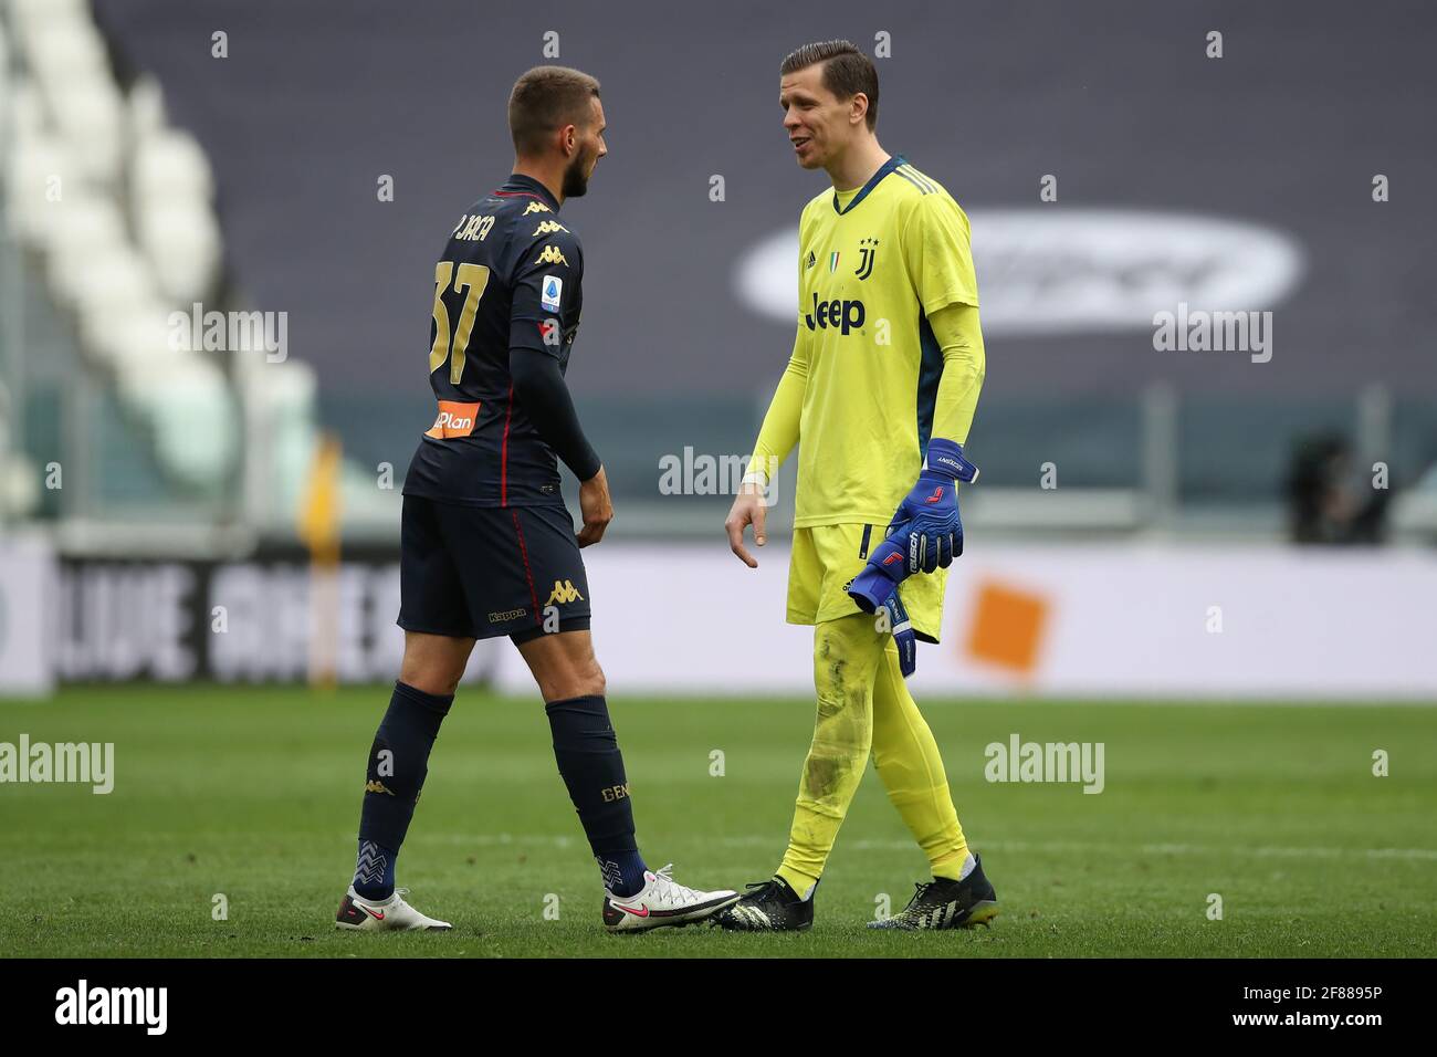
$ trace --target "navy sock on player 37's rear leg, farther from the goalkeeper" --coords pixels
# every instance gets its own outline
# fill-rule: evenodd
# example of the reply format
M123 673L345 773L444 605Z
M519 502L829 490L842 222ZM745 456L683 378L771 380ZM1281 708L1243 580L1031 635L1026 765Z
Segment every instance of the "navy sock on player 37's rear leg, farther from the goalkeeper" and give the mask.
M365 771L359 811L359 856L355 892L365 899L388 899L394 892L394 860L414 818L414 805L430 772L430 749L454 695L437 696L405 683L394 685Z

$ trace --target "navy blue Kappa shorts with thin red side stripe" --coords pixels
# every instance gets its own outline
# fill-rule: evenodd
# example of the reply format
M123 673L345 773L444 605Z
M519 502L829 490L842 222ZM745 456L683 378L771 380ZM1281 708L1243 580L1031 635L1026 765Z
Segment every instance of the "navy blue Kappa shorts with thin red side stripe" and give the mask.
M563 506L404 496L399 627L516 641L589 627L589 578Z

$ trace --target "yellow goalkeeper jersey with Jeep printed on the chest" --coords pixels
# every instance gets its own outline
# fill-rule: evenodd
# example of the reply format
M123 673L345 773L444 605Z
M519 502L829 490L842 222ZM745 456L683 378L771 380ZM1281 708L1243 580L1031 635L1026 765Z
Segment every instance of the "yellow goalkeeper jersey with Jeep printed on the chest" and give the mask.
M796 528L888 522L933 430L944 362L928 318L977 303L967 216L904 158L890 158L856 191L826 190L809 201L799 221L789 364L789 372L806 374ZM776 404L782 395L783 383ZM757 456L782 462L787 450L754 454L756 465Z

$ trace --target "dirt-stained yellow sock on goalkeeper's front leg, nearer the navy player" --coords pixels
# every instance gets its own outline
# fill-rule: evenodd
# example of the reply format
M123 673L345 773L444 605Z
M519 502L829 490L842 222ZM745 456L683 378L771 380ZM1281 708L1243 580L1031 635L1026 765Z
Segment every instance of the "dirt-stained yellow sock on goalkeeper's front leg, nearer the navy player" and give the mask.
M813 628L818 718L799 779L789 848L777 870L800 896L822 876L838 827L868 767L874 677L885 639L874 630L872 617L864 613L828 620Z

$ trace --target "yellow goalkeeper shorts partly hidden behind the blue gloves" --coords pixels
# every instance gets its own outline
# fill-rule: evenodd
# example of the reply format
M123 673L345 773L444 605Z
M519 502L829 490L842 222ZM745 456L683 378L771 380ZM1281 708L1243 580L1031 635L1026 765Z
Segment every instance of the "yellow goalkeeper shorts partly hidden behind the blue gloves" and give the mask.
M793 558L789 562L790 624L822 624L862 613L848 597L848 585L868 562L868 554L884 541L885 525L815 525L793 529ZM914 572L898 587L914 634L938 641L943 627L943 590L948 571Z

